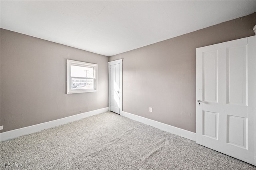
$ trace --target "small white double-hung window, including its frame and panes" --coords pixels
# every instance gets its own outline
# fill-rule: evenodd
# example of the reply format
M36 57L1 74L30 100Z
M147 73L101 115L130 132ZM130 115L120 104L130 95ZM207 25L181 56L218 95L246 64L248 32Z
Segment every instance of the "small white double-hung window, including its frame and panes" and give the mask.
M98 65L67 59L67 94L97 91Z

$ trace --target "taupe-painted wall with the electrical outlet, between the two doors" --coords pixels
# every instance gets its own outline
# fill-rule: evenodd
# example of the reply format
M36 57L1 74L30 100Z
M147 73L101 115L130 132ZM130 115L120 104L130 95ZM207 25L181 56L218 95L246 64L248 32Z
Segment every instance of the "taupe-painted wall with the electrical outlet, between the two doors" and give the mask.
M196 132L196 48L254 36L255 24L256 13L110 57L123 58L123 111Z

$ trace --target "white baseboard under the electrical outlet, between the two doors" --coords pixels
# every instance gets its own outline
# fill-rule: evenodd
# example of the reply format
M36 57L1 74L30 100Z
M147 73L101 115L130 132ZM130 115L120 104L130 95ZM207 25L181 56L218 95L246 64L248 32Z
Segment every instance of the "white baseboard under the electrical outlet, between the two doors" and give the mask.
M133 115L131 113L127 113L127 112L124 112L124 111L123 111L123 116L127 117L129 119L132 119L134 121L138 121L138 122L144 123L146 125L150 125L152 127L159 128L159 129L164 130L166 132L170 132L172 134L176 134L178 136L182 136L184 138L196 141L196 133L194 133L194 132L190 132L188 130L173 127L171 125L167 125L167 124L164 124L164 123L161 123L161 122L158 122L158 121L153 121L151 119L140 117L140 116L137 116L137 115Z

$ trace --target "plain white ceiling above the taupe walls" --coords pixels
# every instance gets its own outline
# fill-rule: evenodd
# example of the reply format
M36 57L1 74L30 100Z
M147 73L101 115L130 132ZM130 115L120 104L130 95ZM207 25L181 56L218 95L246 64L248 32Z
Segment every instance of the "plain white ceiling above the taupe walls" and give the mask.
M112 56L256 12L256 1L4 1L1 28Z

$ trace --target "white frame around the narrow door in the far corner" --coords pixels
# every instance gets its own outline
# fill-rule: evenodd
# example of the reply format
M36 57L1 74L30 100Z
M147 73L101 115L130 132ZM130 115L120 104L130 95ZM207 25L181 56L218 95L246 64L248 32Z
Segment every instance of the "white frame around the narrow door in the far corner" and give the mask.
M110 111L111 80L110 66L120 64L120 115L123 115L123 59L108 62L108 110Z

